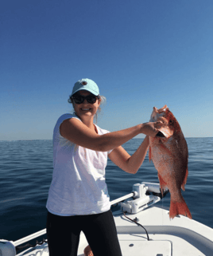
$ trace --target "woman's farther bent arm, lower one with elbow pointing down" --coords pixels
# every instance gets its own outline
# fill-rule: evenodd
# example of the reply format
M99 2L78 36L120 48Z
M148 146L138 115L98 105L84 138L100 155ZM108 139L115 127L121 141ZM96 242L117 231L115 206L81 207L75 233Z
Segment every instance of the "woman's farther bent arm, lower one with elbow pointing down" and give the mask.
M124 148L121 146L114 148L109 154L109 158L123 171L135 174L141 167L141 164L145 160L146 152L149 148L149 136L145 136L145 139L134 152L133 156L130 156Z

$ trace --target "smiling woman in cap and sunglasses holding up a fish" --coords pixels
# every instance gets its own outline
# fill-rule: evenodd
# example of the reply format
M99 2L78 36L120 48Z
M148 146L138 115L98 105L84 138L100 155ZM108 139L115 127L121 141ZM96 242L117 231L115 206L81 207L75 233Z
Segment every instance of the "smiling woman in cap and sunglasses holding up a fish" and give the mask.
M145 159L149 137L160 123L138 124L108 132L93 123L101 104L99 87L90 79L76 82L70 96L75 114L60 116L53 132L53 175L48 194L47 235L50 256L76 256L79 234L84 253L122 255L105 183L107 156L118 167L136 173ZM145 140L130 156L122 144L137 136ZM92 250L92 252L91 252Z

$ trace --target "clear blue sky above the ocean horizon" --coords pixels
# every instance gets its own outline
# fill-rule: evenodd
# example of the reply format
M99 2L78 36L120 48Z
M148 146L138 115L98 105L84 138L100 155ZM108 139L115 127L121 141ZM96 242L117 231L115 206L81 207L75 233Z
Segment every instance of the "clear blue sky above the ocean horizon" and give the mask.
M1 1L0 45L0 140L52 140L81 78L110 132L167 104L185 137L213 136L212 0Z

